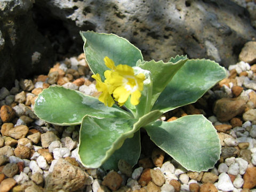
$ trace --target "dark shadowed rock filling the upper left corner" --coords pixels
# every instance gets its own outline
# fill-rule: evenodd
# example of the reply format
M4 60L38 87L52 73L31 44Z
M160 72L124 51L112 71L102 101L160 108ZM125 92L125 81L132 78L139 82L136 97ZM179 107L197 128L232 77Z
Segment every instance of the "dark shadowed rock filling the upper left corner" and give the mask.
M53 64L50 41L38 33L32 0L0 1L0 87L15 78L44 73Z

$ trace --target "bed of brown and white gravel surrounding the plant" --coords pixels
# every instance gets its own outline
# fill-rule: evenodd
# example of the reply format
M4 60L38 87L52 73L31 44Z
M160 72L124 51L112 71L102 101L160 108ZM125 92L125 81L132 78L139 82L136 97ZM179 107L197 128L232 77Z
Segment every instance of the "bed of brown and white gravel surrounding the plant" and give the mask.
M122 159L118 171L82 166L77 156L79 126L46 123L36 117L33 106L50 85L99 95L84 54L55 63L48 75L15 81L11 90L2 87L0 191L256 192L256 64L247 62L230 65L227 78L195 104L161 118L204 114L213 123L221 157L213 169L200 173L185 170L143 132L141 157L134 167ZM214 106L210 101L216 101Z

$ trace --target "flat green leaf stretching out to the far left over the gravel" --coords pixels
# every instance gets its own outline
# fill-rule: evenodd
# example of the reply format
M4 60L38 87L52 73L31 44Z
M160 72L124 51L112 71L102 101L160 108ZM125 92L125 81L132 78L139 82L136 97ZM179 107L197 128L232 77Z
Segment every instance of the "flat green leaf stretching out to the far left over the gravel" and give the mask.
M81 92L50 86L38 95L35 101L35 114L47 122L57 125L77 125L85 115L111 118L131 116L121 108L106 107L97 98Z

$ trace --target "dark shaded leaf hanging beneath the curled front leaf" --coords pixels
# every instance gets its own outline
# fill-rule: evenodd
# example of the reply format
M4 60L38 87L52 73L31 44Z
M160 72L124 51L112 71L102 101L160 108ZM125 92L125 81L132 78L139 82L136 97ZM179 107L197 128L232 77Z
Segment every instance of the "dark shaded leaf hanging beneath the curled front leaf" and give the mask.
M117 164L120 159L134 166L138 163L140 150L140 131L137 131L132 138L125 139L123 146L117 149L101 167L104 170L118 170Z

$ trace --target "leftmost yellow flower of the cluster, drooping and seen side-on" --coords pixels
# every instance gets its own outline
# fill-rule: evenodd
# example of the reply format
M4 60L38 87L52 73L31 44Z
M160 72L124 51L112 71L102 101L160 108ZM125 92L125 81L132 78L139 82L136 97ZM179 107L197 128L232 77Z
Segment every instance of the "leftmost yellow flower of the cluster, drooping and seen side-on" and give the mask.
M96 80L96 89L102 92L99 101L103 102L105 106L112 107L115 103L114 99L111 97L114 87L107 83L103 83L99 74L92 75L92 78Z

